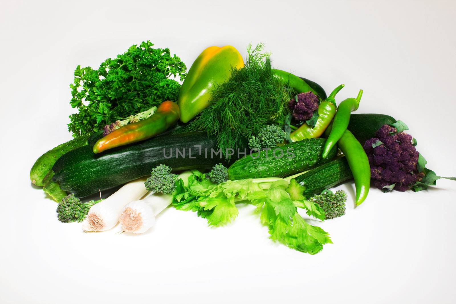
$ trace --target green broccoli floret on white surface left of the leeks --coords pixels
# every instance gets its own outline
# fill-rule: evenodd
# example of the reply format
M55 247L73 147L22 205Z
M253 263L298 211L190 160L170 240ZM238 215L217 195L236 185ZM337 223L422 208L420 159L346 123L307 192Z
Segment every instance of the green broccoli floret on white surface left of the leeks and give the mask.
M73 193L65 196L57 206L58 220L62 223L82 222L87 216L90 207L98 202L89 201L83 203Z

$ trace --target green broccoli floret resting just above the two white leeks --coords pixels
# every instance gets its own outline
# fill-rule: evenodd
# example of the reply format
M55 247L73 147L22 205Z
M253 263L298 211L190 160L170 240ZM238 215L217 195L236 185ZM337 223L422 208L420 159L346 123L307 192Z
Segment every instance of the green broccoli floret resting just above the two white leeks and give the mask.
M147 191L171 194L176 189L177 174L171 173L167 165L158 165L150 173L144 183Z

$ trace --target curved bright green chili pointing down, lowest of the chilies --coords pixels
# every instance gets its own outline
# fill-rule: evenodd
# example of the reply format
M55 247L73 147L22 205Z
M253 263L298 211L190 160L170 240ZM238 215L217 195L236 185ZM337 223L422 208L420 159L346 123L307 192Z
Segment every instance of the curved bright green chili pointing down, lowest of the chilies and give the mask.
M331 133L332 125L325 132L325 135ZM370 187L370 165L368 156L364 152L363 146L359 143L356 137L349 130L345 130L342 137L337 142L337 146L347 159L348 166L353 174L356 188L356 205L366 199Z

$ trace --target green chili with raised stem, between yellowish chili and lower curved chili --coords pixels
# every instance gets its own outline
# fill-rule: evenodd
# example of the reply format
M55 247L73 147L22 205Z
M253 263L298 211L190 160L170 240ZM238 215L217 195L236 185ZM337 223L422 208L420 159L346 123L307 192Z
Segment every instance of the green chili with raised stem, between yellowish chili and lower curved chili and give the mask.
M328 157L329 151L331 151L332 147L334 147L345 130L347 130L351 112L358 110L361 96L363 96L363 90L359 90L357 98L347 98L337 107L334 122L332 123L331 134L329 134L328 140L326 140L325 147L323 148L323 158Z

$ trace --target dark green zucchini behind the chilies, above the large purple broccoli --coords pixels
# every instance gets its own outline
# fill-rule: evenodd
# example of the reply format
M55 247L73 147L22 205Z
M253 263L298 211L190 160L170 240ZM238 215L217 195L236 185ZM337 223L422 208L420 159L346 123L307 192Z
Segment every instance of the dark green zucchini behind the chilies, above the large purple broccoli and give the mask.
M375 133L383 125L395 122L396 119L385 114L352 114L347 129L364 145L366 140L375 137Z

